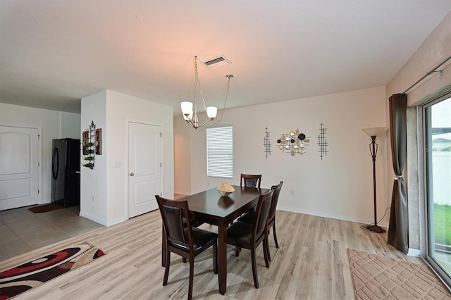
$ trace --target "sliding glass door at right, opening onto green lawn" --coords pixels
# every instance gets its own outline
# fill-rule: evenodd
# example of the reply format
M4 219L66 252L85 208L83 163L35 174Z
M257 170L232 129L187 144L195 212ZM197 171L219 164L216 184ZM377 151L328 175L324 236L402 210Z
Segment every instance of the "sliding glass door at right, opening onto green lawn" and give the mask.
M451 94L423 107L426 261L451 286Z

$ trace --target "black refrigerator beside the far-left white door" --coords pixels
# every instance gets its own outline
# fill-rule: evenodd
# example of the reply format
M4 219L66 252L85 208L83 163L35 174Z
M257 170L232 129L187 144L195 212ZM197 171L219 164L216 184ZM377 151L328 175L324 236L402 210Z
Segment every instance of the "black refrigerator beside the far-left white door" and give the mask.
M80 139L54 139L51 153L51 202L80 204Z

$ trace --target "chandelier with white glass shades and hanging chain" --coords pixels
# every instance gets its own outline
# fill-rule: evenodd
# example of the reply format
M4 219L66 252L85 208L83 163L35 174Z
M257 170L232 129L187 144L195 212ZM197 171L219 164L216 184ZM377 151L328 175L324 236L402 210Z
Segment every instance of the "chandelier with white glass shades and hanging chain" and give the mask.
M221 111L221 118L222 113L224 109L226 108L227 103L227 97L228 97L228 90L230 87L230 79L233 78L233 75L226 75L226 78L228 79L227 82L227 89L226 89L226 99L224 100L224 106L223 110ZM204 104L204 110L206 111L206 115L209 118L204 123L199 124L199 117L197 116L197 96L200 96L200 99L202 99L202 103ZM190 124L194 129L197 129L198 127L204 126L206 123L214 122L215 124L218 124L221 121L221 118L214 121L214 118L216 118L216 114L218 113L218 108L216 106L209 106L206 107L204 95L202 94L202 89L200 87L200 81L199 81L199 74L197 73L197 56L194 56L194 104L192 102L182 102L180 104L182 108L183 118L185 121ZM194 111L193 111L194 108Z

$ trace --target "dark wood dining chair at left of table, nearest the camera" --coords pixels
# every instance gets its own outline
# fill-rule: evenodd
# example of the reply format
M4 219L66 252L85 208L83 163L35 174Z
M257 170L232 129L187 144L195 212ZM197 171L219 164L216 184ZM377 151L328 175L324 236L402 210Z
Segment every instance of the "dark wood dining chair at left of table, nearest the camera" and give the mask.
M155 195L163 219L164 235L166 235L166 265L163 286L168 283L171 252L190 261L190 284L188 299L192 298L192 281L194 277L194 257L213 246L213 270L218 273L218 235L208 230L192 227L187 201L175 201ZM185 219L185 225L183 222ZM164 238L164 237L163 237Z

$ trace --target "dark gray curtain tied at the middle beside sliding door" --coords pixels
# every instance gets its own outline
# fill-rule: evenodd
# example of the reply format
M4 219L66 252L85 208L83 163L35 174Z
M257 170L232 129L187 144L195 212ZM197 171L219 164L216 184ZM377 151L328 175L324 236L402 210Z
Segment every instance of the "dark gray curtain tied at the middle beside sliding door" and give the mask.
M407 154L407 95L390 96L390 140L392 144L393 181L390 224L388 226L388 244L405 254L409 251L409 211L407 191L402 179L402 169Z

